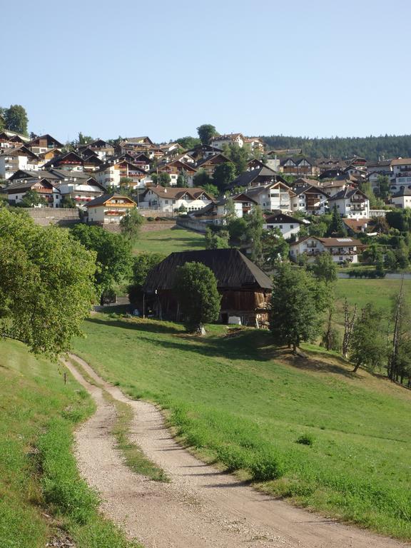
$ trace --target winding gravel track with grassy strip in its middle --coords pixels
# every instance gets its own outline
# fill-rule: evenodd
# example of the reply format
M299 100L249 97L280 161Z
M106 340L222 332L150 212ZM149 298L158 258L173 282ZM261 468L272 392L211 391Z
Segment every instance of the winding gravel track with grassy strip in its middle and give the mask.
M234 476L205 465L170 435L156 406L129 400L76 356L84 370L114 398L133 407L131 440L165 470L159 483L126 467L110 427L116 417L101 389L69 362L74 377L96 401L97 411L76 432L81 474L98 489L107 517L146 548L404 548L410 546L319 517L273 499Z

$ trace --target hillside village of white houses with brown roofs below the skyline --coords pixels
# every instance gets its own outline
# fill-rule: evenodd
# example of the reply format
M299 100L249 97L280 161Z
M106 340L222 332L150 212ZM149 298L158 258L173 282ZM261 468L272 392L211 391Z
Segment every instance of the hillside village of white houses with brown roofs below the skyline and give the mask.
M148 136L68 146L49 134L3 130L2 192L12 206L77 208L86 223L118 225L137 207L146 218L180 218L201 232L223 228L228 210L245 218L258 206L264 228L290 243L292 260L329 252L341 265L358 263L365 245L357 235L386 231L387 211L411 206L411 158L313 161L301 149L269 150L261 138L202 127L213 131L191 148ZM333 212L343 233L317 230Z

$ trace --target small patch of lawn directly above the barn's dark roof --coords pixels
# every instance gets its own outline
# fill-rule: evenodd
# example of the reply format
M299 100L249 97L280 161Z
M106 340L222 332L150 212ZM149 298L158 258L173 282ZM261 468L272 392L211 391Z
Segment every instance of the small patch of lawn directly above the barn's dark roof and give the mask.
M134 245L134 253L151 252L169 255L173 251L204 249L204 236L184 228L166 228L141 232Z

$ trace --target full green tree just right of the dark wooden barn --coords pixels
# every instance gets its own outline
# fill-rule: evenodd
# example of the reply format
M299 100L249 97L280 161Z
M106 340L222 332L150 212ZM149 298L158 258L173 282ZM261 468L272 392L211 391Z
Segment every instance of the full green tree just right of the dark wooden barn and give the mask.
M323 284L308 270L278 265L273 278L270 330L280 344L293 345L294 352L303 341L313 341L320 333Z

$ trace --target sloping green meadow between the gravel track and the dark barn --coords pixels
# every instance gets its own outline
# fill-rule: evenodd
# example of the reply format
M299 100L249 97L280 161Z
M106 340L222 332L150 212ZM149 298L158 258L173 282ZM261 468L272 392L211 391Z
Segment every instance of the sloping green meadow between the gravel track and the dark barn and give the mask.
M306 360L270 334L96 315L76 351L133 397L168 409L204 457L268 492L411 539L411 393L335 355ZM308 352L312 347L307 347ZM299 440L299 442L298 442ZM305 443L304 443L305 442Z

